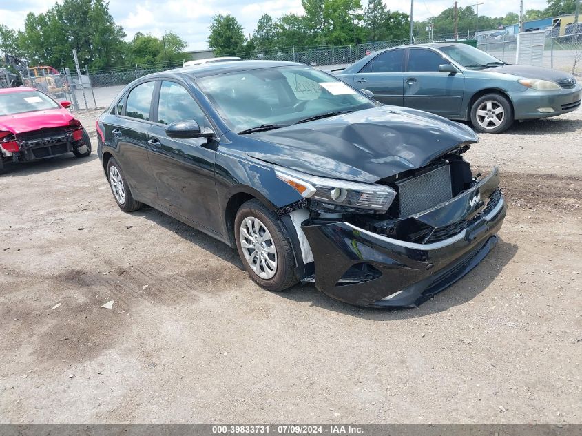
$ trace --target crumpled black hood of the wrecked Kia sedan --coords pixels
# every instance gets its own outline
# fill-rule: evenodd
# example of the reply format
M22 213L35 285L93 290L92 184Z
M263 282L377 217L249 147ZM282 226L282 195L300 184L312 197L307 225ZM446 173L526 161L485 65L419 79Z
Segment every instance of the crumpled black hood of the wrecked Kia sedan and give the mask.
M479 141L466 125L382 106L253 134L249 156L298 171L373 183Z

